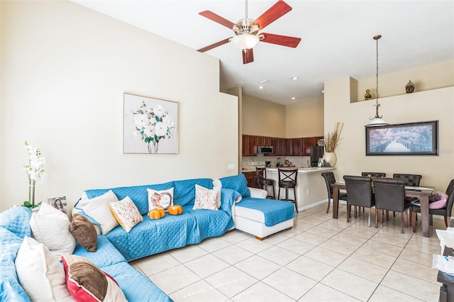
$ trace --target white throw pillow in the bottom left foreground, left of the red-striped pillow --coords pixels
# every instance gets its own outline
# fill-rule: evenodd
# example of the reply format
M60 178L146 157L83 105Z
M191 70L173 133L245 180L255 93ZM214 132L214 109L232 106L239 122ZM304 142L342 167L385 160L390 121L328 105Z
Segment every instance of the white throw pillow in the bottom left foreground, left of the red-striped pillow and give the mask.
M31 301L75 301L66 287L65 269L43 243L23 238L15 264L19 282Z

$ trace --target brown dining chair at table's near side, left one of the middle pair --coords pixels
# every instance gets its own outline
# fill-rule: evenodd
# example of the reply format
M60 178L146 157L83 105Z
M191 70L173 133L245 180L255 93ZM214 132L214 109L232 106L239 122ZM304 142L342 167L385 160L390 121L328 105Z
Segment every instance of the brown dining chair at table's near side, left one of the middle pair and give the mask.
M351 206L369 208L369 218L367 225L370 227L370 218L372 216L372 206L375 206L375 196L372 192L372 178L359 177L353 175L344 175L345 189L348 194L347 201L347 222L350 222Z

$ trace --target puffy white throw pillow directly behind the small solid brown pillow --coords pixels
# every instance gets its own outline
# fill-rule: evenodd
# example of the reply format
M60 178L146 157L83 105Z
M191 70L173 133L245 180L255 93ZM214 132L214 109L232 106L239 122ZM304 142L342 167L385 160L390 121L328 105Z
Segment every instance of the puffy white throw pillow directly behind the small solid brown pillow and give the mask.
M70 219L50 204L42 203L38 212L33 212L30 228L32 237L58 259L64 253L74 252L76 240L70 230Z

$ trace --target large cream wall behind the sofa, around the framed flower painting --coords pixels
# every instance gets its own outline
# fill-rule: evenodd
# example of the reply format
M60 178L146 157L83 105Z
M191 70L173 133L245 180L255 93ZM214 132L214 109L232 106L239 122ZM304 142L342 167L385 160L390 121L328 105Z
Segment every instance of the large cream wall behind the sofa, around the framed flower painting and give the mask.
M0 211L28 198L23 142L47 177L36 199L237 174L238 98L219 62L69 1L1 1ZM179 154L123 154L123 92L179 102ZM238 168L238 167L236 167Z

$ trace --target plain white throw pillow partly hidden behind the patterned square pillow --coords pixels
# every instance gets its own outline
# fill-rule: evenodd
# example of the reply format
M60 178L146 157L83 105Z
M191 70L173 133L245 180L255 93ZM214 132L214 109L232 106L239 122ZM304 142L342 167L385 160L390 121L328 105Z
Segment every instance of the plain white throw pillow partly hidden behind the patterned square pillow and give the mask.
M102 235L106 235L118 225L118 221L115 219L109 206L109 203L116 201L118 201L118 198L112 190L107 191L101 196L84 201L82 210L101 225Z

